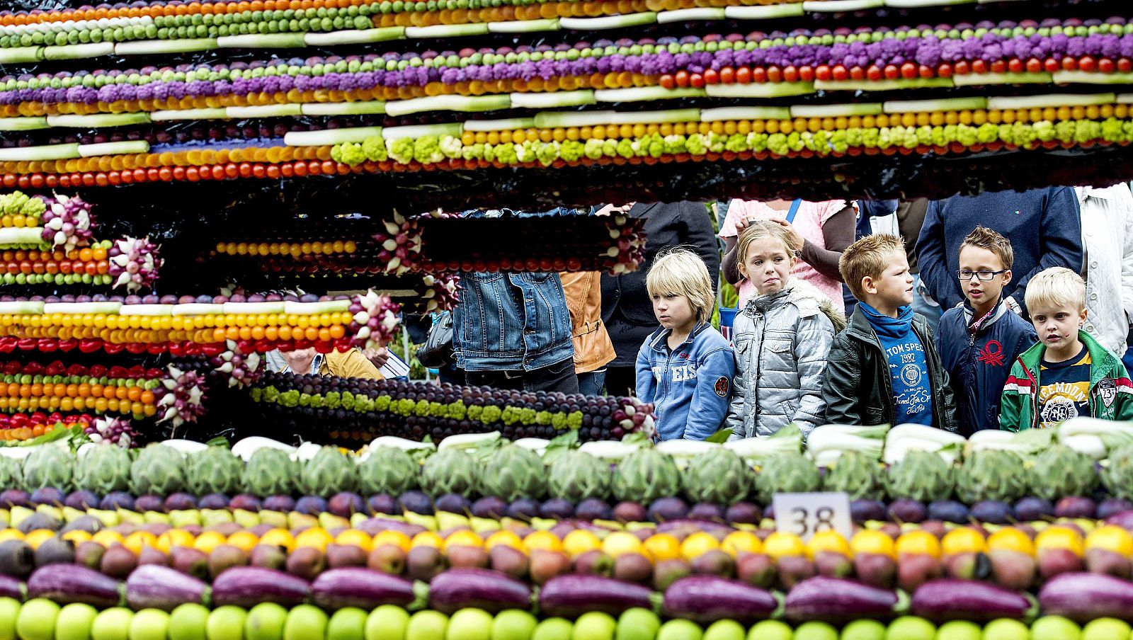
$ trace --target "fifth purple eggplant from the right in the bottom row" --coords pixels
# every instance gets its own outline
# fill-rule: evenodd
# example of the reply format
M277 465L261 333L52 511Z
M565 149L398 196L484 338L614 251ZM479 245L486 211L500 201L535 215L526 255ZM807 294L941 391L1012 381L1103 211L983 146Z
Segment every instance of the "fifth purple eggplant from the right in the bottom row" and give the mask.
M657 594L600 575L557 575L539 591L539 611L545 616L578 617L588 611L621 615L633 607L655 609Z

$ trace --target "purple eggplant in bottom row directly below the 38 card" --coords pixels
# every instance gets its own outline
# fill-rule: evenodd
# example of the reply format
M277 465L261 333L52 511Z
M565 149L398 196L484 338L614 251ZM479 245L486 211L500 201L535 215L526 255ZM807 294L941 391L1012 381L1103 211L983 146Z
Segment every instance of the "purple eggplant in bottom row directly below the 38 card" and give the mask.
M859 617L888 620L908 606L889 589L857 580L818 575L799 582L786 595L786 617L794 622L846 623Z

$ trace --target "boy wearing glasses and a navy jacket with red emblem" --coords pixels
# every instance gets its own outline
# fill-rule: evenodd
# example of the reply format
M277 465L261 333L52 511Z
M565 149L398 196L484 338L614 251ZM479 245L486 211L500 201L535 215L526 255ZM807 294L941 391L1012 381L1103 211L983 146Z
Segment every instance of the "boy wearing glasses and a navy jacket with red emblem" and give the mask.
M999 399L1011 366L1038 341L1034 327L1012 313L1003 297L1014 262L1011 242L986 227L977 227L960 245L954 275L964 301L940 317L937 350L964 436L999 428Z

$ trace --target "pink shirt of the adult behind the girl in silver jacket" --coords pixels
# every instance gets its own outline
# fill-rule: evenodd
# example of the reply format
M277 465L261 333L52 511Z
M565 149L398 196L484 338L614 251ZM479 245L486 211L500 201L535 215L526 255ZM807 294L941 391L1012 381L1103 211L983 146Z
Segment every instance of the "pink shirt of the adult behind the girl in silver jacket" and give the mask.
M845 200L824 200L818 203L802 200L799 205L799 211L795 212L793 225L808 242L826 248L826 237L823 234L823 225L826 224L826 221L830 216L845 208ZM786 211L776 211L761 202L733 199L732 204L727 207L727 216L724 219L724 223L719 225L719 237L735 238L738 236L735 232L735 221L740 216L747 216L751 220L769 220L776 216L786 217ZM818 273L815 271L815 267L801 259L791 270L791 275L810 282L834 302L835 309L845 312L841 282ZM750 298L757 296L756 285L748 279L740 281L738 291L740 293L741 309L748 304Z

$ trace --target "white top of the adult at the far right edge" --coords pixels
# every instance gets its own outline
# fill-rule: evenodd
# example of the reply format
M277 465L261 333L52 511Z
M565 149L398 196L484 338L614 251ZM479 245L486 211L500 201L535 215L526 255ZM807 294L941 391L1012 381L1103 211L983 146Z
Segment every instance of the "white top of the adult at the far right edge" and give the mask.
M1075 187L1085 250L1083 328L1118 358L1125 355L1133 318L1133 194L1124 182Z

